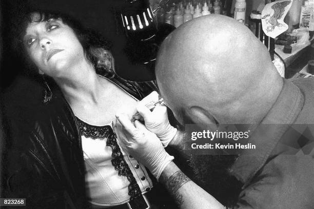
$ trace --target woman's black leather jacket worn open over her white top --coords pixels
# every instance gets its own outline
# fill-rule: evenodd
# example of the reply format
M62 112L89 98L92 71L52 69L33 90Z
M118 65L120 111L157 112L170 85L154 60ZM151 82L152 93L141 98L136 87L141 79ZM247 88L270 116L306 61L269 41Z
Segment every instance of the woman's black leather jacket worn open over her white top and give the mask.
M156 90L153 82L111 80L138 99ZM26 198L27 208L88 207L81 135L70 106L58 88L43 104L39 83L16 83L4 97L9 132L2 197Z

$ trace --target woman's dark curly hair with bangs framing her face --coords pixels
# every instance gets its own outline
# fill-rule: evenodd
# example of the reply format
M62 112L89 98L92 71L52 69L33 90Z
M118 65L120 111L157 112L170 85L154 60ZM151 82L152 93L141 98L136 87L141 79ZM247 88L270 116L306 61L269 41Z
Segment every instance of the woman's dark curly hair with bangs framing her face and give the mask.
M36 19L34 19L34 13L39 14L38 17L36 16ZM106 40L100 33L95 32L92 29L85 29L79 22L77 22L77 20L71 18L70 16L49 11L28 12L23 18L19 19L19 23L17 23L16 26L17 31L15 34L17 34L17 45L15 47L19 53L22 53L21 57L24 57L24 61L28 64L28 69L30 69L31 73L34 73L34 70L37 68L29 61L25 45L23 43L26 28L28 24L32 22L46 22L51 18L60 18L64 24L73 29L76 37L83 46L86 58L92 63L97 74L109 77L114 75L112 65L113 58L109 51L111 43L108 40Z

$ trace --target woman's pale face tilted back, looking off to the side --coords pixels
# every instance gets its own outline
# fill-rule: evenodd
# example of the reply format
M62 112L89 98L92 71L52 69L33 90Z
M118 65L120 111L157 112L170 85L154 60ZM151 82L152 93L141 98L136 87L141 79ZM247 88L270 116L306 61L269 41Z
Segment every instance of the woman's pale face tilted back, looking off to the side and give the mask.
M34 13L32 17L36 20L39 14ZM80 41L61 19L30 23L23 41L34 64L51 77L71 76L70 67L85 60Z

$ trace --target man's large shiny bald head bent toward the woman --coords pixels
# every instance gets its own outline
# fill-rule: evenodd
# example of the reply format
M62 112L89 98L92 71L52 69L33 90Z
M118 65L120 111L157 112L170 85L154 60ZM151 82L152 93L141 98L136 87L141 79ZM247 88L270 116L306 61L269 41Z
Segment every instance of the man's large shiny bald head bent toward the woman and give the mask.
M199 17L174 30L155 70L161 94L181 122L183 115L199 123L257 122L252 113L265 114L282 88L267 48L222 15Z

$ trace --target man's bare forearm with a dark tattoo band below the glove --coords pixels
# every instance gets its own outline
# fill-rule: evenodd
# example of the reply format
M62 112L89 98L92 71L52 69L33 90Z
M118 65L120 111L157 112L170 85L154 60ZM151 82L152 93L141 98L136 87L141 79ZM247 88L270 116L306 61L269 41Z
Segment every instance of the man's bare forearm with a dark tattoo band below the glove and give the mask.
M191 181L174 162L170 162L166 166L159 181L166 187L181 209L225 208L200 186Z

